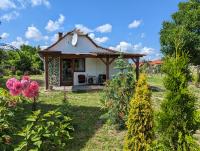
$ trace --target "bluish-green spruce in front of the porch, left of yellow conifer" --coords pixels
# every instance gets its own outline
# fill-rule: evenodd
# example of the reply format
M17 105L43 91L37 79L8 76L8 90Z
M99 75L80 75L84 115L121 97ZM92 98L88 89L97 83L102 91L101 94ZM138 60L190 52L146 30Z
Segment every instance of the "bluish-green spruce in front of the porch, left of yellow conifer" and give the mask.
M108 81L101 102L108 110L106 116L109 122L123 128L127 120L129 101L134 90L134 71L122 57L116 60L116 68L121 72Z

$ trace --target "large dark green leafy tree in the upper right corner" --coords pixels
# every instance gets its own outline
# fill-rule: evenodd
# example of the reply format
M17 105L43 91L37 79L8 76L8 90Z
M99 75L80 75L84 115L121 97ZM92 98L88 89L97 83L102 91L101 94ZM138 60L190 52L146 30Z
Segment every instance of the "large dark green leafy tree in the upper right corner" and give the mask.
M163 22L160 31L161 51L164 55L175 53L174 37L182 29L182 51L188 52L191 63L200 64L200 1L179 3L179 10L172 14L172 21Z

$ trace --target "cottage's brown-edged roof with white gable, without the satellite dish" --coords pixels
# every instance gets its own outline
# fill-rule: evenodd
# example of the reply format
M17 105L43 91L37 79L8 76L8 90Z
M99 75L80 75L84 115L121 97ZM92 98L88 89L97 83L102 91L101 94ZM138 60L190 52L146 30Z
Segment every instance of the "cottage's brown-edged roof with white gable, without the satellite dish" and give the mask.
M74 33L78 35L78 42L76 46L72 46L72 36ZM74 29L62 37L60 37L55 43L40 51L42 54L48 53L60 53L60 54L74 54L74 55L119 55L123 54L128 56L143 57L144 54L124 53L109 48L104 48L96 44L88 34Z

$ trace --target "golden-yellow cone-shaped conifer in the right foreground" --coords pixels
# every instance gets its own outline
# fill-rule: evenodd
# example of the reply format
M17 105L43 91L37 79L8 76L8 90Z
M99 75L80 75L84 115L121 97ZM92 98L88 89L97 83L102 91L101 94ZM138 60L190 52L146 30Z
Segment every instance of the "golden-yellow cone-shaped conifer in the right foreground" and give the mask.
M153 109L151 92L142 74L138 80L135 96L130 101L130 111L127 122L128 132L125 138L125 151L146 151L152 144Z

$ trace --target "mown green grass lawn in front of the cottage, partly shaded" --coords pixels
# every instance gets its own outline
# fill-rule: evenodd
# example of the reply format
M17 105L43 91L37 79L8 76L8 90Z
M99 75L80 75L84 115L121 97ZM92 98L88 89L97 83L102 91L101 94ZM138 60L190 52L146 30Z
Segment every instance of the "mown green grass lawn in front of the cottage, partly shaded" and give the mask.
M41 93L39 97L38 108L43 111L62 107L72 118L74 126L73 140L68 144L66 151L110 151L122 150L124 136L126 131L119 131L110 126L100 117L104 114L101 108L100 98L101 91L97 92L67 92L68 105L63 103L64 94L61 91L44 91L44 82L42 76L31 76L36 79L40 85ZM151 86L159 87L161 91L152 92L153 107L159 109L159 105L163 99L164 87L162 84L163 76L149 76L148 82ZM6 78L0 79L0 83L5 83ZM200 89L190 85L190 89L200 98ZM200 100L199 100L200 101ZM31 106L26 107L27 114L31 111ZM21 120L23 120L21 118ZM197 137L199 137L197 135ZM200 138L200 137L199 137Z

